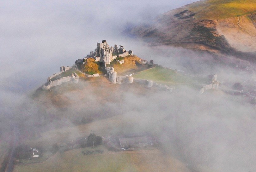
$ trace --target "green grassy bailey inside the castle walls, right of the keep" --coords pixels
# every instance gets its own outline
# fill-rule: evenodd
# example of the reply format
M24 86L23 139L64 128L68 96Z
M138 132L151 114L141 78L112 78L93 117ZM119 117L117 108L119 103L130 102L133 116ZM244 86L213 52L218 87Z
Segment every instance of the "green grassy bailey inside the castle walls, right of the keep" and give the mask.
M198 84L204 85L208 82L207 78L190 77L182 75L175 70L164 67L153 67L148 70L133 74L134 78L148 79L164 84Z

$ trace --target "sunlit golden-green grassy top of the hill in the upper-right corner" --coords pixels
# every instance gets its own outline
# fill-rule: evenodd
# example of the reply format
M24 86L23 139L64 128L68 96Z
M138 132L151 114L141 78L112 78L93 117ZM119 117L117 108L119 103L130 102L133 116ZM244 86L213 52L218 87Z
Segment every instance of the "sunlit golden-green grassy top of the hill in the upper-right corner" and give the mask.
M197 19L225 19L256 12L256 0L204 0L188 6Z

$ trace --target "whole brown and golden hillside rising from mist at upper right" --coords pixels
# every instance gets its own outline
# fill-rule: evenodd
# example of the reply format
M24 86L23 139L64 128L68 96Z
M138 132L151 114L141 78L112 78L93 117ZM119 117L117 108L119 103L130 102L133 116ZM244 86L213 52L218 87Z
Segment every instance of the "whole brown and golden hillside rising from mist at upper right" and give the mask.
M172 45L256 60L256 1L205 0L171 10L129 33Z

